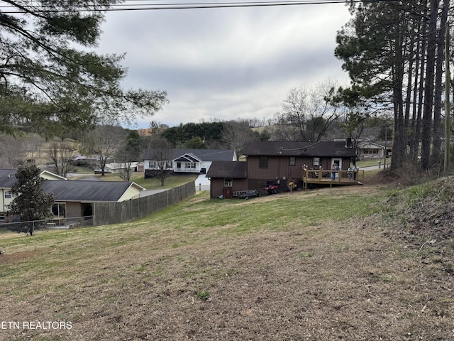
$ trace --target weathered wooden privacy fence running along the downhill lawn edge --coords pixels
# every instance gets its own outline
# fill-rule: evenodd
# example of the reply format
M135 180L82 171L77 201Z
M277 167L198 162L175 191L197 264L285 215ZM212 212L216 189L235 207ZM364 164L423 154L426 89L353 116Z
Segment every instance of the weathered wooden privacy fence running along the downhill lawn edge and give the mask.
M93 226L131 222L164 210L196 194L195 183L187 183L161 193L123 202L97 202L93 204Z

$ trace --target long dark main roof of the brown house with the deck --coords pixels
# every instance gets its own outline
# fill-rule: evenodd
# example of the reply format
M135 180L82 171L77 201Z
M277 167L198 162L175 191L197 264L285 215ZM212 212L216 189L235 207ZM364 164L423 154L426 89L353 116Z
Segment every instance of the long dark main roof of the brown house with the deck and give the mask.
M345 141L248 141L243 154L254 156L309 156L350 157L356 156L355 149L346 147Z

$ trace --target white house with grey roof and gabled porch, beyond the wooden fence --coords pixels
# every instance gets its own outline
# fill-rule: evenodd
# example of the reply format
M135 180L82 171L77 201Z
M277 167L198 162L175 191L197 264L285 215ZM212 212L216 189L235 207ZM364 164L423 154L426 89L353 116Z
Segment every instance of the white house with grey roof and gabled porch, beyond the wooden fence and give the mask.
M153 160L153 149L144 156L145 178L159 170L158 160ZM206 174L213 161L235 161L236 153L228 149L171 149L167 170L173 173Z

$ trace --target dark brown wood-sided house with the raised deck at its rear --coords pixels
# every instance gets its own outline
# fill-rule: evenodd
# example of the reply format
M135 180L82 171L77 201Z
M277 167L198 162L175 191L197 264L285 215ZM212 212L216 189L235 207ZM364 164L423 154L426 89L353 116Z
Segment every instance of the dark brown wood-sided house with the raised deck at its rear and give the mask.
M243 154L246 156L246 180L234 178L236 163L223 164L223 172L207 174L211 180L211 197L223 195L226 187L235 188L233 194L242 190L262 190L267 183L276 183L281 191L290 181L301 187L303 166L329 171L334 163L338 170L346 173L356 156L351 144L345 141L249 141ZM231 184L228 179L232 179ZM225 183L223 188L222 183Z

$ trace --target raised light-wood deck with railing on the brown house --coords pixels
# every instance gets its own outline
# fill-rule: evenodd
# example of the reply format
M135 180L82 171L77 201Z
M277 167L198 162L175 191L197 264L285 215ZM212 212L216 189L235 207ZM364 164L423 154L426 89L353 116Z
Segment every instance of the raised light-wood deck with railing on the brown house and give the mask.
M334 180L333 173L336 173ZM329 185L330 187L333 185L362 185L364 171L359 170L355 175L351 171L332 172L331 169L309 169L307 166L303 166L301 180L303 180L304 190L307 189L308 184Z

